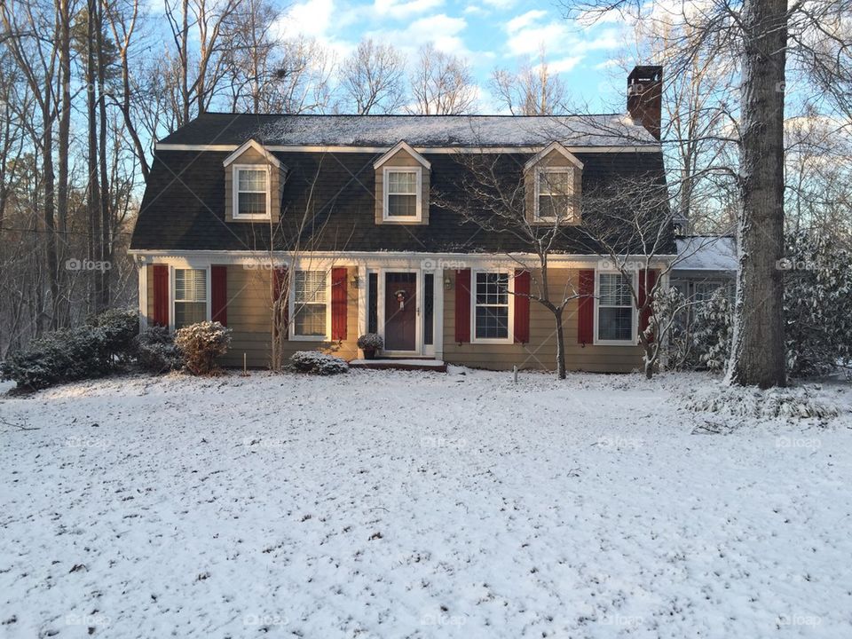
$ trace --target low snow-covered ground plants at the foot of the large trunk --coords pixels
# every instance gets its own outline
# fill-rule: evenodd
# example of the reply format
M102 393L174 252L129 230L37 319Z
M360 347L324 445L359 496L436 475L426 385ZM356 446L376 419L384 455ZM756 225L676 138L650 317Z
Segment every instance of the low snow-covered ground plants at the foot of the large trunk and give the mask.
M840 414L817 398L818 387L797 386L760 390L755 387L714 386L687 398L683 406L697 413L714 413L732 419L820 420Z

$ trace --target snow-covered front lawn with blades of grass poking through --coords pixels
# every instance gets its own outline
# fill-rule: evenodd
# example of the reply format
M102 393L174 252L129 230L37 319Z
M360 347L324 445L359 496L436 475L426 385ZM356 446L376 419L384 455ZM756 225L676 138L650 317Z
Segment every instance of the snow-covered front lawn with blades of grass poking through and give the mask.
M682 398L715 383L451 369L2 396L0 636L852 636L852 390L820 391L827 425L693 434L720 422Z

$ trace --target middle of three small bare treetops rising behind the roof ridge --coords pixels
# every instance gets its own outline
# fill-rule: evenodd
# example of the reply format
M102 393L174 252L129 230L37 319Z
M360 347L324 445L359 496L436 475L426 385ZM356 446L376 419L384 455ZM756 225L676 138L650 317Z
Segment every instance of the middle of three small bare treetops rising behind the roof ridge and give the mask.
M467 60L438 51L432 43L421 47L409 82L413 113L458 115L475 109L477 87Z

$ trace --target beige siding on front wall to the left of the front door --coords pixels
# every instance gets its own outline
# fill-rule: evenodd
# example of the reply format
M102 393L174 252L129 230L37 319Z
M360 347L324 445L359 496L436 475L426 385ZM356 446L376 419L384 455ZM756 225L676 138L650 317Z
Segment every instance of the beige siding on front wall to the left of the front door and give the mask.
M319 350L343 359L358 356L358 289L351 280L357 269L347 274L346 340L343 343L288 341L284 357L296 351ZM266 269L228 266L228 327L233 331L231 349L222 359L225 366L242 366L243 353L249 367L268 367L272 354L272 275ZM330 306L329 306L330 312Z

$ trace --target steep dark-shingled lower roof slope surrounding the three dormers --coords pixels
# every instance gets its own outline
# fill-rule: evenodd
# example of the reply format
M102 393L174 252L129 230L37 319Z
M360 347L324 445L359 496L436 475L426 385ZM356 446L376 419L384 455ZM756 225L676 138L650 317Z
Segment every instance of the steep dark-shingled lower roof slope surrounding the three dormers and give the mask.
M275 152L289 168L282 194L280 233L268 223L225 223L227 152L158 150L130 248L160 250L265 250L293 248L293 220L301 219L312 193L312 250L506 252L529 246L507 233L462 224L453 212L430 207L430 224L375 225L373 162L378 153ZM584 162L583 192L617 177L642 177L665 184L659 153L578 153ZM531 154L503 154L505 170L519 171ZM452 189L462 167L454 154L427 154L433 188ZM664 187L664 186L663 186ZM673 242L674 245L674 242ZM567 227L564 253L600 253L579 229ZM674 252L672 248L671 252Z

